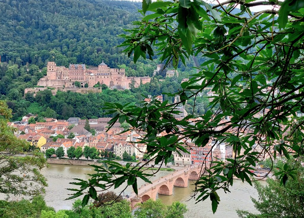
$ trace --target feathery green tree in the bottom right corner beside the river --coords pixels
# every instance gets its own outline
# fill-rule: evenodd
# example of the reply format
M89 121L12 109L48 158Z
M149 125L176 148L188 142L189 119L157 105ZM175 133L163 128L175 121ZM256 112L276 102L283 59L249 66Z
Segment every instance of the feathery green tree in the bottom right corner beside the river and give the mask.
M302 158L300 158L302 159ZM296 218L304 214L304 180L303 166L295 163L294 160L275 163L278 169L287 169L286 165L295 167L292 177L287 177L285 186L282 186L279 175L275 170L275 179L268 178L267 185L254 182L255 189L259 195L258 199L251 197L254 207L259 213L250 213L245 210L238 210L240 218ZM281 184L280 184L281 183Z

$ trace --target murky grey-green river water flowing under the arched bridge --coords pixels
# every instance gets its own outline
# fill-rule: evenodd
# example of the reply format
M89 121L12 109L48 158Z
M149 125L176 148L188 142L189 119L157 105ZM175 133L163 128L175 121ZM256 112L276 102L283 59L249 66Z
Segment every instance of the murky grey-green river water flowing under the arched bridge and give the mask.
M57 165L50 164L49 168L43 169L42 173L48 179L49 186L46 188L45 200L47 205L53 206L56 210L70 209L74 200L64 199L68 197L67 194L71 191L66 188L76 187L68 184L73 181L73 178L87 179L89 176L87 173L93 173L92 168L89 166L73 166L73 165ZM151 180L157 179L161 176L172 173L171 171L159 171L157 176L151 178ZM138 187L144 184L143 181L139 181ZM248 183L242 183L240 180L235 180L231 193L225 194L220 192L221 198L217 212L213 215L211 210L211 201L207 199L204 202L195 204L194 199L190 199L190 193L193 189L192 182L189 180L189 186L187 188L174 187L173 195L158 195L164 203L169 204L173 201L181 201L188 206L189 213L186 217L194 218L222 218L230 217L237 218L236 210L249 210L256 212L253 203L250 200L250 196L257 198L257 192L254 187L251 187ZM124 186L125 187L125 186ZM123 187L116 189L119 192ZM131 193L131 187L128 187L125 194ZM189 200L189 201L188 201Z

